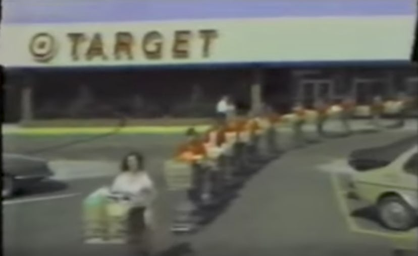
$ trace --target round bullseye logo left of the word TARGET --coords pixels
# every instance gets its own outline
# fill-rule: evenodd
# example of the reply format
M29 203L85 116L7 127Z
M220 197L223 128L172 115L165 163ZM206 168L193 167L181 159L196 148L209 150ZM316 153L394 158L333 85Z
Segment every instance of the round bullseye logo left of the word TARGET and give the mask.
M37 33L30 40L29 52L35 61L48 62L57 53L57 42L48 33Z

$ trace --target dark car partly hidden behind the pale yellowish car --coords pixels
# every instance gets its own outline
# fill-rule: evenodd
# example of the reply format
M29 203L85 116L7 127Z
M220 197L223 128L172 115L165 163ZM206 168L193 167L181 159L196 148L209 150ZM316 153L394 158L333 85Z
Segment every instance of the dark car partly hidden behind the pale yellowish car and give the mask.
M417 139L417 136L410 136L389 145L355 150L349 155L348 164L357 171L384 167L416 145Z

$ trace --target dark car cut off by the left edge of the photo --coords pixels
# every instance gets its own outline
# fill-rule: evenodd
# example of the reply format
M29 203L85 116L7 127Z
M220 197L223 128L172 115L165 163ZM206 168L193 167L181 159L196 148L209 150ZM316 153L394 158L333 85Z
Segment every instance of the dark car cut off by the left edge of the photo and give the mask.
M53 175L45 160L18 154L3 153L2 197L9 198Z

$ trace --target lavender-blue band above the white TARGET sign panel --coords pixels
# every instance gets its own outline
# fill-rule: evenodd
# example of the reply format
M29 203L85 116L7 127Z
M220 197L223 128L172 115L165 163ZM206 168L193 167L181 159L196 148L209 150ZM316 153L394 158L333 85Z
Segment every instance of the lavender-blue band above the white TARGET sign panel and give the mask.
M416 15L415 0L6 0L3 8L8 24Z

